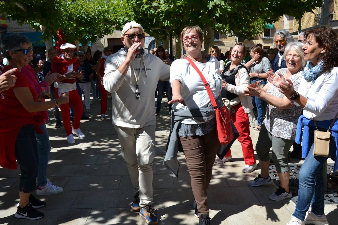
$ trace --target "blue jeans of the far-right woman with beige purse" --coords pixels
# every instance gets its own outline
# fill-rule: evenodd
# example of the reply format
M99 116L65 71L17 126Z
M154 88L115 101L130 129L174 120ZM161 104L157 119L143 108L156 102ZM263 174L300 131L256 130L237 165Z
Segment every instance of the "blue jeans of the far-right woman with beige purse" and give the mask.
M311 135L310 141L314 140L314 127L310 127ZM326 131L320 129L320 131ZM314 156L312 144L310 152L306 157L303 166L299 171L299 189L298 189L298 201L296 204L295 212L292 216L303 220L305 214L310 208L311 212L315 215L324 214L324 179L323 179L323 165L329 157ZM336 149L336 143L334 137L331 135L330 140L330 153ZM329 154L330 155L330 154Z

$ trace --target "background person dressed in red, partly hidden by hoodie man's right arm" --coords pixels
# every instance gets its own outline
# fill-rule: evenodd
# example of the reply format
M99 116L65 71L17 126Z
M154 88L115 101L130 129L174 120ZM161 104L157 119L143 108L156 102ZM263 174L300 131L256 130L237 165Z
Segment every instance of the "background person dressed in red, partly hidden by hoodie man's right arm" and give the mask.
M103 53L104 53L104 55L102 55L102 57L99 58L99 60L97 60L97 63L96 63L97 79L100 81L99 82L99 89L100 89L100 93L101 93L101 101L100 101L101 118L105 118L105 112L107 111L107 93L108 93L104 89L103 83L102 83L102 78L104 76L104 63L105 63L106 58L113 53L113 50L112 50L111 47L105 47L103 49Z

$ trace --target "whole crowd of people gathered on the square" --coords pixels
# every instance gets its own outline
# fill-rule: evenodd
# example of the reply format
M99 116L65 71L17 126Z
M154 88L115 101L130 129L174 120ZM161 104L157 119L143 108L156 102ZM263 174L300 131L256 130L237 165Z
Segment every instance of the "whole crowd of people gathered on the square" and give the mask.
M217 46L203 52L202 29L188 26L180 35L186 54L176 60L162 46L149 54L140 51L144 37L142 25L131 21L122 29L124 47L114 54L106 47L92 56L67 43L60 47L61 55L49 49L45 62L34 56L27 37L3 38L0 49L8 62L0 75L0 165L9 169L17 168L16 161L20 165L15 217L37 220L44 216L36 208L45 202L35 198L33 191L38 196L63 191L47 178L51 150L47 110L52 109L55 127L63 124L67 142L74 144L73 135L86 137L80 121L88 119L92 92L93 101L100 101L101 118L106 115L108 94L111 97L112 123L134 187L131 208L147 224L158 224L151 206L152 163L156 115L166 92L172 124L164 164L177 176L177 152L183 151L200 225L212 223L207 190L213 165L232 160L230 144L224 158L216 156L220 144L215 109L224 106L233 125L228 132L238 132L245 163L242 172L258 169L257 151L260 174L248 185L272 184L272 161L280 186L269 198L291 198L288 158L293 145L292 153L305 161L299 173L296 209L287 225L329 224L324 214L322 171L329 157L335 161L334 170L338 169L337 34L320 27L301 33L296 41L287 30L277 30L275 48L266 52L262 46L247 49L239 42L222 54ZM250 127L259 132L255 148ZM320 136L323 133L326 139Z

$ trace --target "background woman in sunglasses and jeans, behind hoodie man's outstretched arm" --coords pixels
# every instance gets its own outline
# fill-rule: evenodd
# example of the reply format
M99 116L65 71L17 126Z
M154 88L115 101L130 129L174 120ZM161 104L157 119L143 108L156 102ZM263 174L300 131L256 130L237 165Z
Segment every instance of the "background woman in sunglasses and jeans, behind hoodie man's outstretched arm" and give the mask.
M165 62L166 64L171 65L171 60L169 58L166 58L166 54L164 51L165 50L162 46L157 47L155 56L162 59L162 61ZM159 83L157 84L157 87L158 87L159 95L157 97L157 102L156 102L156 115L159 115L160 110L161 110L161 102L162 102L164 90L166 91L168 102L171 101L171 87L170 87L169 81L159 81ZM169 104L169 113L171 111L171 106L172 104Z

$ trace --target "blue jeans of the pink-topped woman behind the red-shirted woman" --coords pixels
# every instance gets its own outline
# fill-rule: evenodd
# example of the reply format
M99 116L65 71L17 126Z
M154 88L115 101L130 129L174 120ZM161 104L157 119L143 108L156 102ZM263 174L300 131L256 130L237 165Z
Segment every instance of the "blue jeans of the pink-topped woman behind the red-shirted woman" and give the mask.
M47 164L51 146L46 124L40 125L40 128L44 133L38 134L35 132L35 138L37 139L39 154L38 185L43 187L47 184Z

